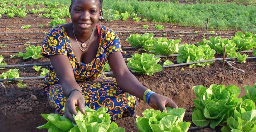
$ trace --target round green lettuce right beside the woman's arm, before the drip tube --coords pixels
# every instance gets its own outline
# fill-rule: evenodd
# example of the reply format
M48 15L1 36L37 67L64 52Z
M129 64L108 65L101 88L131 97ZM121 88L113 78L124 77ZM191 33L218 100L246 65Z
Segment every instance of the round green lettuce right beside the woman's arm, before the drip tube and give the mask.
M132 55L132 58L127 59L127 66L132 69L132 72L152 75L155 72L160 72L163 70L163 67L160 64L157 64L160 57L154 56L154 54L135 53Z

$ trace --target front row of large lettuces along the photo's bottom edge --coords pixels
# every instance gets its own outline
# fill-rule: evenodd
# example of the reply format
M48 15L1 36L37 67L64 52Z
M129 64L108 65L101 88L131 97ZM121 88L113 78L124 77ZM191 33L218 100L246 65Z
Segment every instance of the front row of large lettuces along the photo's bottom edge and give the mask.
M238 98L240 88L235 85L212 84L209 88L194 86L196 99L193 100L192 122L194 125L211 128L221 126L222 132L255 132L256 131L256 84L243 86L246 95ZM183 122L185 109L166 111L146 109L143 117L136 118L139 132L187 132L190 122ZM115 122L111 123L108 108L97 111L85 108L85 115L77 109L73 115L75 123L58 114L41 114L48 122L37 128L46 128L49 132L124 132Z

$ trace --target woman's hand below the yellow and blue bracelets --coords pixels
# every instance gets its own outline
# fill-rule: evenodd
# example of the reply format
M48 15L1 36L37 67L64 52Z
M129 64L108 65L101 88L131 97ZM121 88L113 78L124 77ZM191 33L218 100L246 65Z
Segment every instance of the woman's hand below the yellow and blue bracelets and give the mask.
M178 108L178 106L175 104L175 102L173 102L172 99L156 93L152 94L149 97L149 106L153 109L160 111L166 111L166 106Z

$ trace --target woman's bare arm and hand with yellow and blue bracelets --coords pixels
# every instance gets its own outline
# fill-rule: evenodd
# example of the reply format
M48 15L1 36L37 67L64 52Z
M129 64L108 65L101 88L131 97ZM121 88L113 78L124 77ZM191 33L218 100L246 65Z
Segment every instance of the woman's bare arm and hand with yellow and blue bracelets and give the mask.
M117 84L120 88L143 100L143 94L147 88L141 85L137 78L131 74L121 52L110 54L108 57L108 63L115 74ZM149 97L149 105L157 110L166 110L165 106L178 108L172 99L159 94L152 94Z

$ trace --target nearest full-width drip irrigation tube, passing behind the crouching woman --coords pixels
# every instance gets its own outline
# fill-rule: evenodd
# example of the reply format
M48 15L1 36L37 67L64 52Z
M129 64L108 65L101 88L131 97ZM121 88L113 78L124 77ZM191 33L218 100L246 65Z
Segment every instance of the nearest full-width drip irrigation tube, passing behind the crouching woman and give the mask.
M255 59L256 57L247 57L247 59ZM231 57L231 58L226 58L228 59L237 59L237 57ZM211 62L211 61L217 61L217 60L223 60L223 58L216 58L216 59L210 59L210 60L202 60L202 61L197 61L197 62L187 62L187 63L180 63L180 64L172 64L172 65L164 65L162 66L163 68L166 67L177 67L181 65L189 65L189 64L196 64L196 63L203 63L203 62ZM129 69L131 70L131 69ZM113 74L113 72L105 72L105 74ZM24 78L11 78L11 79L0 79L0 82L3 81L18 81L18 80L31 80L31 79L43 79L44 76L33 76L33 77L24 77ZM201 129L201 128L200 128Z

